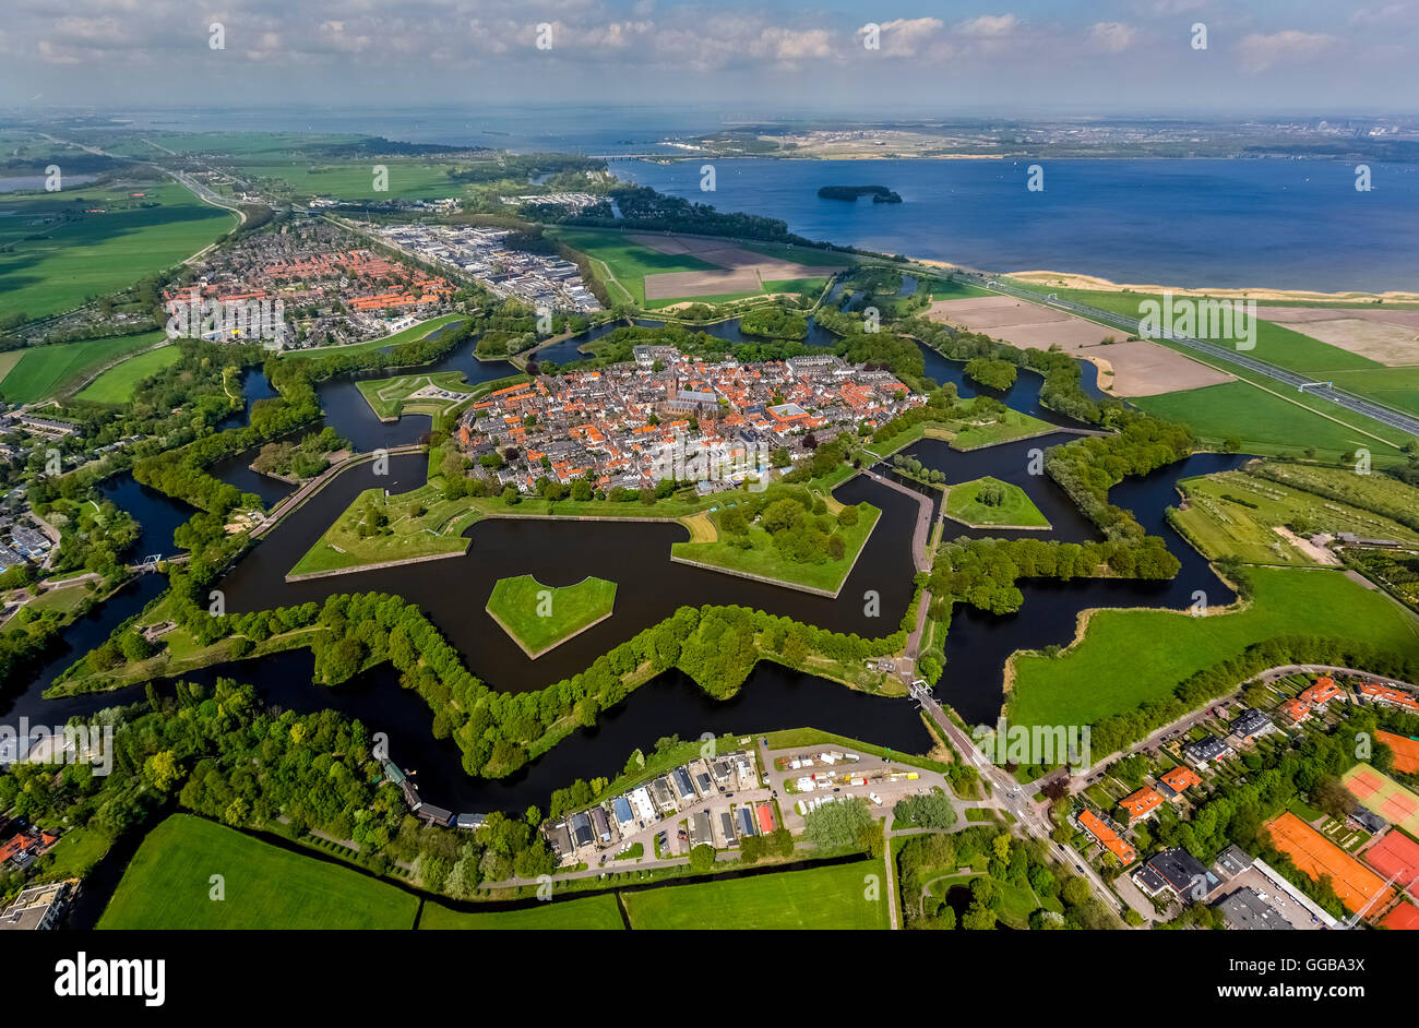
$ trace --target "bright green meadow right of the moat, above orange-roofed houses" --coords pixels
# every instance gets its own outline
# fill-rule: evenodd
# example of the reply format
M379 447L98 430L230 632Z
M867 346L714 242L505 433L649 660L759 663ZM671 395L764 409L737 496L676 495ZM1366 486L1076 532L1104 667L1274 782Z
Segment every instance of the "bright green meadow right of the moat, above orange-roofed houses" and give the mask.
M1320 634L1419 652L1419 620L1338 570L1252 567L1256 596L1242 611L1191 617L1104 610L1056 658L1015 657L1009 717L1019 725L1086 725L1168 696L1195 671L1273 635ZM1161 645L1161 641L1166 645Z

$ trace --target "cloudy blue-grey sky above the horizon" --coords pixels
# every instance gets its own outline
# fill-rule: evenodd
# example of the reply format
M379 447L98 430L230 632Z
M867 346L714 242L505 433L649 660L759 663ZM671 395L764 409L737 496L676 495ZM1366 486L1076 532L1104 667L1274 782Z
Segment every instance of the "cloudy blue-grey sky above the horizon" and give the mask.
M887 119L1412 113L1419 102L1419 0L6 0L4 9L0 108L575 102Z

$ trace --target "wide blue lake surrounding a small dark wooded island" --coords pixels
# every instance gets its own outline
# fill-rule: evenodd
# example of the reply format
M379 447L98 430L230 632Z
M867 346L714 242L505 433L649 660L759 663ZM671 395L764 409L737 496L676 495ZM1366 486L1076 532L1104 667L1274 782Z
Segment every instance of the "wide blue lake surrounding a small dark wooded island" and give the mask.
M1327 160L613 160L623 179L782 218L815 241L988 271L1069 271L1115 282L1280 289L1413 289L1419 166ZM900 204L820 200L819 186L887 186Z

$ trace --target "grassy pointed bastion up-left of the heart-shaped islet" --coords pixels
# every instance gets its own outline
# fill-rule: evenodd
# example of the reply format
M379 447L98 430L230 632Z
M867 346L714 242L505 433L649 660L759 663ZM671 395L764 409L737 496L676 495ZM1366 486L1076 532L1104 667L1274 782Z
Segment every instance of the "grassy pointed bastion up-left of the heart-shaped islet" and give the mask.
M444 499L440 482L397 496L386 496L377 488L366 489L315 540L288 576L460 554L468 549L463 533L480 516L467 499Z

